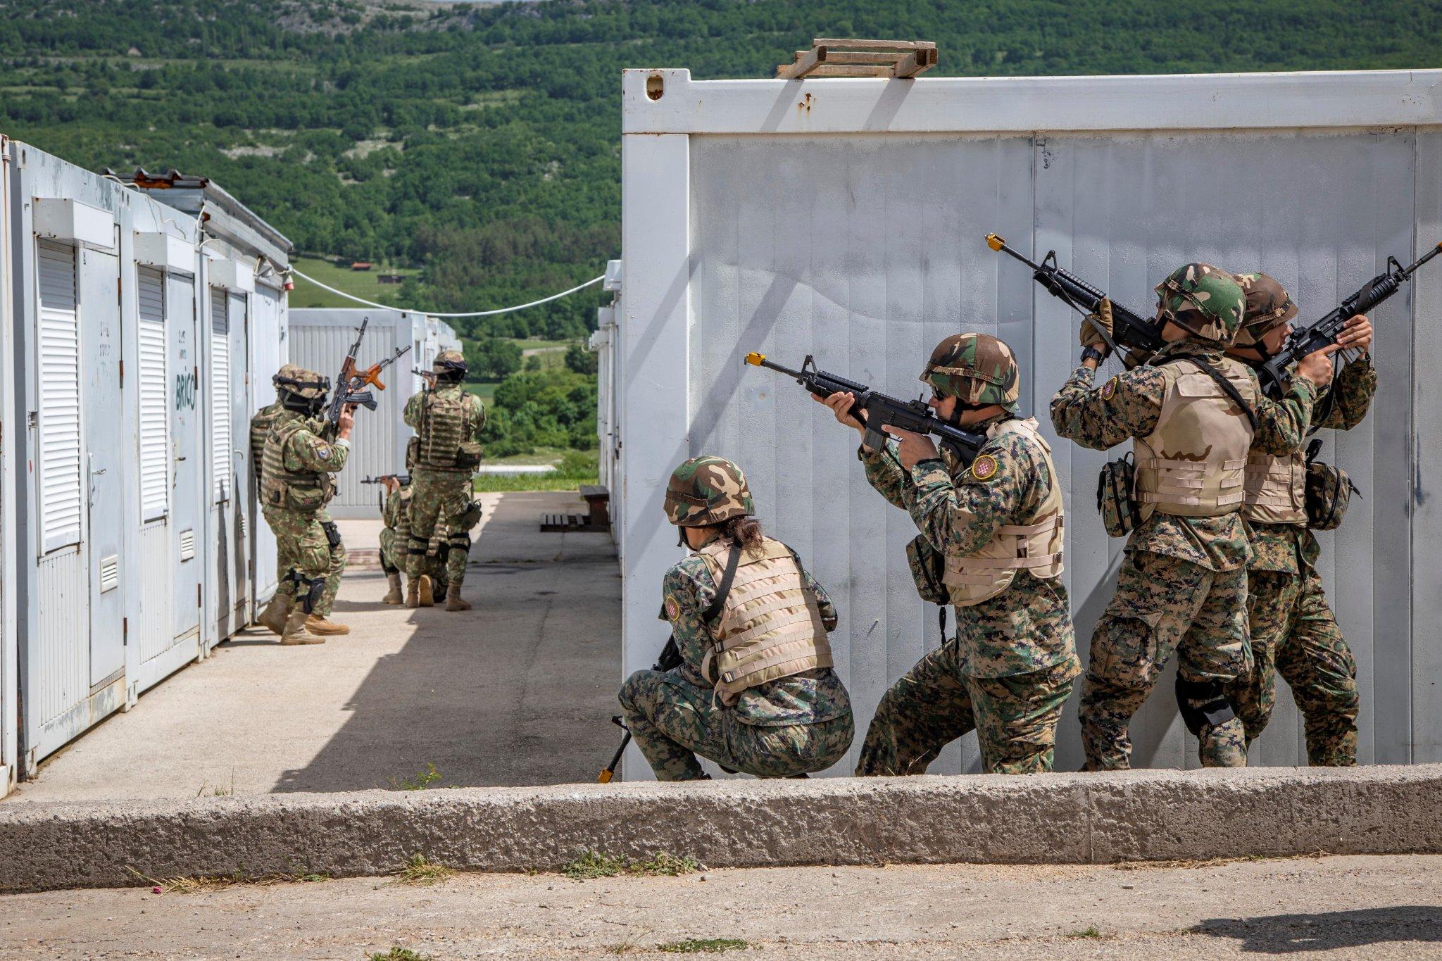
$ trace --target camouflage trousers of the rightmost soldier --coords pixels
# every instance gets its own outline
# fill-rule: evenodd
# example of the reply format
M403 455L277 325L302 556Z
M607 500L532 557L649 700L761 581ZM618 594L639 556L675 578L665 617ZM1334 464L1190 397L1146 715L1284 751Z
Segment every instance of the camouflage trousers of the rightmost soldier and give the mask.
M1327 604L1322 579L1253 571L1247 588L1252 620L1250 677L1227 689L1246 726L1247 743L1262 735L1276 703L1276 676L1292 687L1314 766L1357 764L1357 661Z

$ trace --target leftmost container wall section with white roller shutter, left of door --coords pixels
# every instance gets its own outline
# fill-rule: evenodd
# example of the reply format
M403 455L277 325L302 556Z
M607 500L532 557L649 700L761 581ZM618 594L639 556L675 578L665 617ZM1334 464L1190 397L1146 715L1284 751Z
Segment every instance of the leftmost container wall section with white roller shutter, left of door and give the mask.
M81 428L81 327L75 249L39 242L35 339L36 425L32 461L39 520L36 624L26 644L25 715L35 759L85 729L91 690L89 592L85 589L85 454Z

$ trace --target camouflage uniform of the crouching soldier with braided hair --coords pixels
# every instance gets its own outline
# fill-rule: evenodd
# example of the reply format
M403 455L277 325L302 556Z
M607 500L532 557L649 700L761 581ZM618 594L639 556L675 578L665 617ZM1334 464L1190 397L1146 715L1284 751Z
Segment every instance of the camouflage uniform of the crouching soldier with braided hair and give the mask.
M715 470L725 465L727 470ZM731 506L730 516L751 510L744 477L730 461L699 457L678 474L686 484L707 487L712 503ZM675 478L673 478L675 480ZM672 511L682 526L712 523L705 507ZM707 543L714 543L712 536ZM802 568L806 589L815 596L826 631L836 628L836 608L825 589ZM717 643L714 624L702 612L717 595L717 582L705 559L692 553L676 562L662 581L662 620L671 622L681 666L669 671L640 670L620 690L626 725L662 781L705 777L699 754L731 771L760 778L789 778L823 771L851 748L854 735L851 697L831 667L766 681L740 693L727 705L714 680L702 674Z

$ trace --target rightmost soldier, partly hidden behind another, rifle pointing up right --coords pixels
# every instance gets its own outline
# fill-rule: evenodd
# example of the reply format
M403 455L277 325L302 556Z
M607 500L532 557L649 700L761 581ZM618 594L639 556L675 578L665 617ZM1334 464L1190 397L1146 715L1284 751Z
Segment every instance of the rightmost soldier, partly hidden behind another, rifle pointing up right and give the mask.
M1242 330L1227 354L1249 366L1270 360L1292 333L1296 304L1266 274L1237 277L1247 298ZM1318 401L1318 426L1350 431L1367 416L1377 392L1371 366L1371 321L1353 317L1341 347L1361 352L1343 367L1330 396ZM1321 547L1306 527L1306 462L1301 452L1247 457L1246 507L1252 532L1247 615L1252 625L1250 677L1229 689L1250 745L1272 718L1276 676L1292 686L1306 730L1312 765L1357 764L1357 661L1327 604L1317 573Z

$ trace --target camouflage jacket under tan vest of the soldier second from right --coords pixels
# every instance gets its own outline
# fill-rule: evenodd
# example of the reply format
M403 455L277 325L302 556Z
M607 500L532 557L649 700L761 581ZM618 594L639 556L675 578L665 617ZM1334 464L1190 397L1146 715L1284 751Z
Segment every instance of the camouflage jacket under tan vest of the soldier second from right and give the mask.
M1141 367L1119 373L1109 382L1112 389L1092 389L1094 372L1082 366L1071 372L1051 398L1051 424L1057 434L1083 447L1105 451L1133 437L1148 437L1156 429L1162 409L1165 383L1155 365L1174 354L1191 354L1211 365L1221 363L1223 353L1207 340L1172 341ZM1317 389L1305 377L1289 377L1280 401L1262 396L1256 375L1252 377L1257 415L1257 431L1252 445L1268 454L1292 454L1306 439L1306 424L1312 416ZM1247 529L1240 511L1216 517L1180 517L1154 513L1144 520L1126 542L1128 550L1178 558L1208 571L1234 571L1252 558Z

